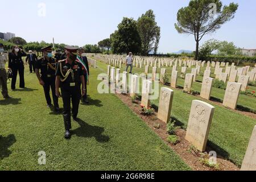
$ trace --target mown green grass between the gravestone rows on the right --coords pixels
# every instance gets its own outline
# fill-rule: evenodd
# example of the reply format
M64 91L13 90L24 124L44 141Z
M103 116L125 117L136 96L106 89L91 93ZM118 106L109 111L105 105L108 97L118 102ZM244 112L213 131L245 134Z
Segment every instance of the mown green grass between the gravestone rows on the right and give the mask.
M98 66L107 71L106 64L100 63L98 61ZM167 69L167 73L170 75L171 69L172 68ZM125 71L125 65L122 65L121 73L123 71ZM158 73L159 72L160 69L158 68ZM144 68L134 67L133 73L144 73ZM149 73L152 73L152 68L150 68ZM141 80L142 79L140 79L140 84L142 82ZM179 78L178 85L183 86L182 82L184 83L184 80ZM194 82L193 85L197 85L197 88L199 88L201 84L199 82ZM163 85L159 85L159 90L162 86ZM164 85L164 87L168 86ZM239 114L224 106L213 104L212 102L204 100L203 98L183 93L180 89L171 89L175 91L174 100L172 102L171 117L174 118L176 121L179 121L179 123L184 128L186 128L188 124L189 113L193 100L208 102L209 104L216 107L216 109L214 110L212 125L210 127L208 146L212 147L213 150L217 152L217 155L222 155L226 159L229 159L233 163L237 164L237 166L241 166L243 157L247 149L247 145L249 143L249 139L251 137L251 133L254 126L256 125L256 119L247 117L243 114ZM221 89L214 89L212 94L220 94L221 92ZM243 102L248 103L252 107L252 109L256 110L255 98L240 95L240 102L238 103L242 104ZM151 104L158 107L159 99L152 100Z

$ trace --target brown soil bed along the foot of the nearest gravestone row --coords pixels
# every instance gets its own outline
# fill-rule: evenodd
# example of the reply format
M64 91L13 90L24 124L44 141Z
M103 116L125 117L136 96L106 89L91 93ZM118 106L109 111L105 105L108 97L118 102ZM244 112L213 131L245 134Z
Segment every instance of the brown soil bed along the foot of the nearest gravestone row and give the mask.
M195 171L214 171L216 169L210 168L205 166L203 163L200 162L200 154L197 152L191 151L191 143L185 140L185 133L186 131L183 129L178 129L176 131L177 137L179 137L180 142L176 145L170 144L167 142L167 129L166 123L160 121L157 118L156 113L152 114L151 116L146 116L141 114L141 101L135 101L134 103L131 101L131 98L128 94L116 94L117 97L127 106L130 107L131 110L134 111L147 125L160 137L166 142L166 144L174 150L181 159L184 160L193 170ZM156 129L155 126L159 124L160 128ZM209 151L212 151L211 148L207 147L207 154ZM205 153L206 154L206 153ZM229 160L225 160L221 156L217 154L217 164L220 171L239 171L240 169L230 162Z

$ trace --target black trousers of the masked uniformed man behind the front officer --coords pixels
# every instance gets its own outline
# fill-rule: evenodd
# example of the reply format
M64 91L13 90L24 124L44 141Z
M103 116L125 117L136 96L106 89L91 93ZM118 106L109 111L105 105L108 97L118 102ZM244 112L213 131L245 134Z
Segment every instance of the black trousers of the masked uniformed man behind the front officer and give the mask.
M47 76L43 76L42 80L44 81L44 96L46 97L46 102L48 105L52 104L52 100L53 100L53 105L54 107L59 107L58 104L58 98L55 94L55 76L52 77L47 77ZM50 88L52 90L52 100L50 97Z

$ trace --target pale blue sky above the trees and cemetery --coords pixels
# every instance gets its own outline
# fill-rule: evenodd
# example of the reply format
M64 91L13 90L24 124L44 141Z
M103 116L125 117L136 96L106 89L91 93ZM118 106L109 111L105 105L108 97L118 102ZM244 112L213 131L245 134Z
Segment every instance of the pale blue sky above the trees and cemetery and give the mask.
M178 34L174 28L177 11L188 5L188 0L23 0L1 3L0 32L13 32L27 42L41 41L65 43L77 46L97 44L109 38L117 29L123 16L138 19L152 9L161 27L159 52L175 52L180 49L195 50L191 35ZM239 4L235 18L217 32L205 36L208 39L227 40L237 47L256 48L256 1L222 0ZM39 3L45 3L46 16L39 16ZM4 7L4 8L3 8Z

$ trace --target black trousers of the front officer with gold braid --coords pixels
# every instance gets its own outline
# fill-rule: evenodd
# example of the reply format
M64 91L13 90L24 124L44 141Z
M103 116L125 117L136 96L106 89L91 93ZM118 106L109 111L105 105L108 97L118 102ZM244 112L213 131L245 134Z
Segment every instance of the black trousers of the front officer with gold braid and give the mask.
M77 117L79 111L79 104L81 99L80 84L76 86L61 86L61 95L63 99L63 119L65 130L70 130L71 126L71 102L72 102L72 116Z

